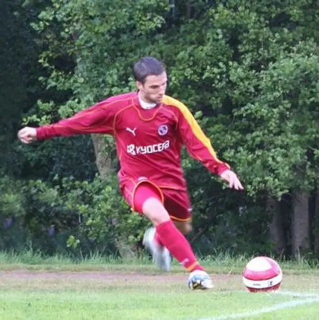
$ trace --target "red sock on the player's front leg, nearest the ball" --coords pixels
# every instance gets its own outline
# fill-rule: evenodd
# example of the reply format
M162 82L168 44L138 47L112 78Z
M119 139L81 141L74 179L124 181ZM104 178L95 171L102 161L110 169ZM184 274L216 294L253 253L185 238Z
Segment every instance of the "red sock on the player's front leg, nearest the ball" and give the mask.
M156 227L156 231L159 235L160 242L187 271L204 270L196 260L193 250L186 238L170 220L160 223Z

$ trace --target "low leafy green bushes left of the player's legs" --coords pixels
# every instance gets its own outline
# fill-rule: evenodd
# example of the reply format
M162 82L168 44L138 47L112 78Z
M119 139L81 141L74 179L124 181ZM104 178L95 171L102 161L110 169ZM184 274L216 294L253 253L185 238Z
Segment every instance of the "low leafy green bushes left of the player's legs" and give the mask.
M116 255L117 239L135 244L147 225L124 203L115 177L97 176L92 182L63 178L55 186L4 177L0 186L2 249L21 249L23 242L31 241L34 250L47 254L80 255L99 249ZM14 241L21 232L21 243Z

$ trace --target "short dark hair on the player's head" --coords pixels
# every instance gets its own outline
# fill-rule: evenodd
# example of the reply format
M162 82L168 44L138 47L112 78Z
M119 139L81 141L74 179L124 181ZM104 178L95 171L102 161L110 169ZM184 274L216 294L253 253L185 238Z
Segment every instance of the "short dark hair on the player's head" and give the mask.
M134 64L133 74L136 81L145 83L146 77L158 76L165 72L164 64L154 57L144 57Z

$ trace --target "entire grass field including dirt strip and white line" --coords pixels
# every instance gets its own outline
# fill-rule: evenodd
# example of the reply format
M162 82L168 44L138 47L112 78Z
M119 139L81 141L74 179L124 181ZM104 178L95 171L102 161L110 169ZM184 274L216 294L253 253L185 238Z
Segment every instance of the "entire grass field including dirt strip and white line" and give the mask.
M175 265L161 274L147 261L95 257L74 264L58 257L0 254L0 320L315 320L319 271L282 263L284 281L272 294L248 293L245 260L206 260L215 288L191 292ZM29 261L26 263L26 260Z

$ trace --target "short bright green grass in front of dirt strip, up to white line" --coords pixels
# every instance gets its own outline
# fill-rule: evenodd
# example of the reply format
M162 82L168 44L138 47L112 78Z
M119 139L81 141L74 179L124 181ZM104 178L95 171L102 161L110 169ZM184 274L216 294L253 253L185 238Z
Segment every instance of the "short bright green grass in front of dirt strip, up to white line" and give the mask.
M274 296L240 293L208 294L185 292L179 287L134 290L81 291L5 291L0 292L0 319L109 319L109 320L184 320L224 316L232 309L238 312L272 306ZM288 301L280 297L279 301Z

